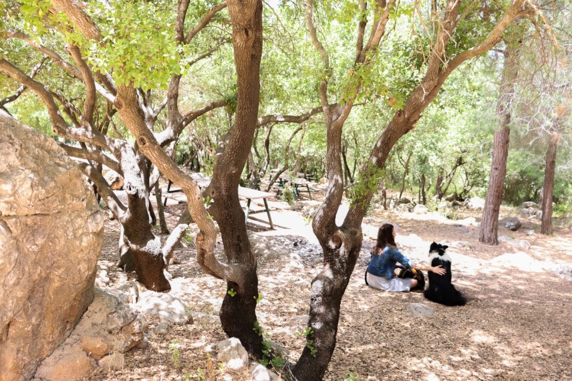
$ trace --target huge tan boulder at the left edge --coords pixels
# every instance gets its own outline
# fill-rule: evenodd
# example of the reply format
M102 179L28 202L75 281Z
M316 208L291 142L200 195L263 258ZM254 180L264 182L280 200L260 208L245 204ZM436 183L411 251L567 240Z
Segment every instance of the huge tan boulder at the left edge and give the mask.
M103 214L53 139L0 115L0 380L27 379L93 299Z

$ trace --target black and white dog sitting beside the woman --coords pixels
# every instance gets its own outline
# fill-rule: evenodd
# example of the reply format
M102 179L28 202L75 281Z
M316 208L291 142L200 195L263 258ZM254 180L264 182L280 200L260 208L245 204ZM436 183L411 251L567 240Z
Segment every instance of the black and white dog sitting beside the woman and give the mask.
M436 242L431 243L429 248L431 266L441 265L447 272L444 275L439 275L430 271L428 274L429 287L423 292L423 295L427 299L445 306L464 306L467 299L451 284L451 257L445 252L447 247Z

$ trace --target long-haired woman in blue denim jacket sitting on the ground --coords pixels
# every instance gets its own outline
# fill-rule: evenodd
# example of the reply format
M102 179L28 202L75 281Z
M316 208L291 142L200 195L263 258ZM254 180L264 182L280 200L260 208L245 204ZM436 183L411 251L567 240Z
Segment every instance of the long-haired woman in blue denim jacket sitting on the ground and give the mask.
M378 242L371 252L370 264L367 266L366 279L370 287L384 291L410 291L417 286L417 279L401 279L396 276L396 262L405 268L415 268L443 275L447 272L439 266L419 266L411 259L404 257L395 244L395 228L391 223L384 223L378 231Z

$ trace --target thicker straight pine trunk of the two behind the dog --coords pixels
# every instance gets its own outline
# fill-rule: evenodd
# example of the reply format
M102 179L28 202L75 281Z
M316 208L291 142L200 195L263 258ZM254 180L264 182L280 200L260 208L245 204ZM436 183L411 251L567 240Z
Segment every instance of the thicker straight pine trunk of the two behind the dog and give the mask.
M498 242L498 218L501 210L503 188L506 178L506 161L509 156L510 106L514 98L514 83L518 77L518 66L514 49L505 50L505 63L501 77L501 88L496 114L501 129L495 132L492 150L491 175L487 196L484 200L483 218L480 222L479 241L496 245Z

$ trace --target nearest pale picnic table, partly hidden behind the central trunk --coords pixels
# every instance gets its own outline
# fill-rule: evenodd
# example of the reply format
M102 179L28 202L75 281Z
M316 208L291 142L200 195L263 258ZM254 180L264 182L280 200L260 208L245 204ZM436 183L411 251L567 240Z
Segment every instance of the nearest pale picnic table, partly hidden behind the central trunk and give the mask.
M204 188L208 187L210 184L210 179L205 179L205 178L193 178L193 179L194 179L194 181L197 182L197 185L200 189L204 189ZM184 194L182 189L180 189L178 187L176 187L175 189L171 189L171 185L172 185L172 183L169 182L165 191L162 192L162 196L165 197L165 201L163 204L164 205L166 204L167 199L177 201L180 204L186 203L187 202L186 195ZM252 217L252 215L257 214L257 213L266 212L266 214L268 216L268 223L270 224L270 228L273 229L274 224L272 223L272 217L270 215L270 208L268 207L268 198L271 196L274 196L274 194L270 193L270 192L263 192L263 191L259 191L256 189L250 189L250 188L245 188L245 187L239 186L239 198L245 199L247 201L247 206L245 208L243 208L244 212L245 212L244 221L246 222L248 220L248 217L250 216L251 219L254 219L254 220L259 221L259 222L265 222L264 220ZM251 209L252 200L259 200L259 199L263 200L264 209L259 209L259 210Z

